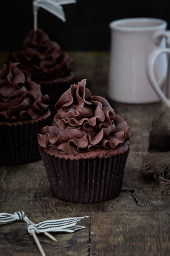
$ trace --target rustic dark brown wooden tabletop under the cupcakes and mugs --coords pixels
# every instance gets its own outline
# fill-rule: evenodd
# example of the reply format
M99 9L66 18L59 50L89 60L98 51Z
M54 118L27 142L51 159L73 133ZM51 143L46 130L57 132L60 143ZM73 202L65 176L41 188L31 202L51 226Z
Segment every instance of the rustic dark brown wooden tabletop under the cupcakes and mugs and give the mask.
M109 53L69 53L78 81L87 79L92 95L107 96ZM1 55L1 62L7 55ZM57 242L38 235L47 256L167 256L169 244L169 196L160 195L154 181L137 176L148 149L148 134L156 104L131 105L109 100L131 128L131 150L126 162L122 191L102 203L70 203L50 191L41 160L28 165L0 167L0 212L19 210L38 223L54 218L87 216L86 229L54 233ZM0 227L0 255L40 255L25 223Z

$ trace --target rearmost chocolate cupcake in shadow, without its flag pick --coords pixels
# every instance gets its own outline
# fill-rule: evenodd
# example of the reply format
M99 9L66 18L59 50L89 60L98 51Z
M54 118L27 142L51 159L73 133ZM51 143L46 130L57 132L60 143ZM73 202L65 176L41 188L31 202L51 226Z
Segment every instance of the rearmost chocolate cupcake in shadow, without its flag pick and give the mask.
M9 61L20 62L20 69L32 81L41 85L42 94L50 96L50 109L73 83L72 59L42 30L31 30L22 50L13 53Z

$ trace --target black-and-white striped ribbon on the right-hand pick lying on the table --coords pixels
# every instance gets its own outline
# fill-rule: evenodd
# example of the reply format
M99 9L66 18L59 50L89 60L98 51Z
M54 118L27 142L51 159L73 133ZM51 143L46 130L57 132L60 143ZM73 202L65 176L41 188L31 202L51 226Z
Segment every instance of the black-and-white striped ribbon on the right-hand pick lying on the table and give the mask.
M38 224L31 224L27 222L28 232L35 231L35 233L44 233L46 232L69 232L73 233L75 231L84 229L85 227L76 226L78 221L81 221L83 218L88 218L88 216L80 218L61 218L59 220L52 221L42 221Z

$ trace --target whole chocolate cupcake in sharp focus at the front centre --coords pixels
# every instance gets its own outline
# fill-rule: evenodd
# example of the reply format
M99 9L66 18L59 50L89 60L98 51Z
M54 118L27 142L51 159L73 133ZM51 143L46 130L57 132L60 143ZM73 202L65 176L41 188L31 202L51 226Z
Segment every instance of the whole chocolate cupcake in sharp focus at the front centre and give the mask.
M85 85L84 79L65 91L54 126L45 126L38 141L54 195L92 203L120 193L131 134L107 100Z

